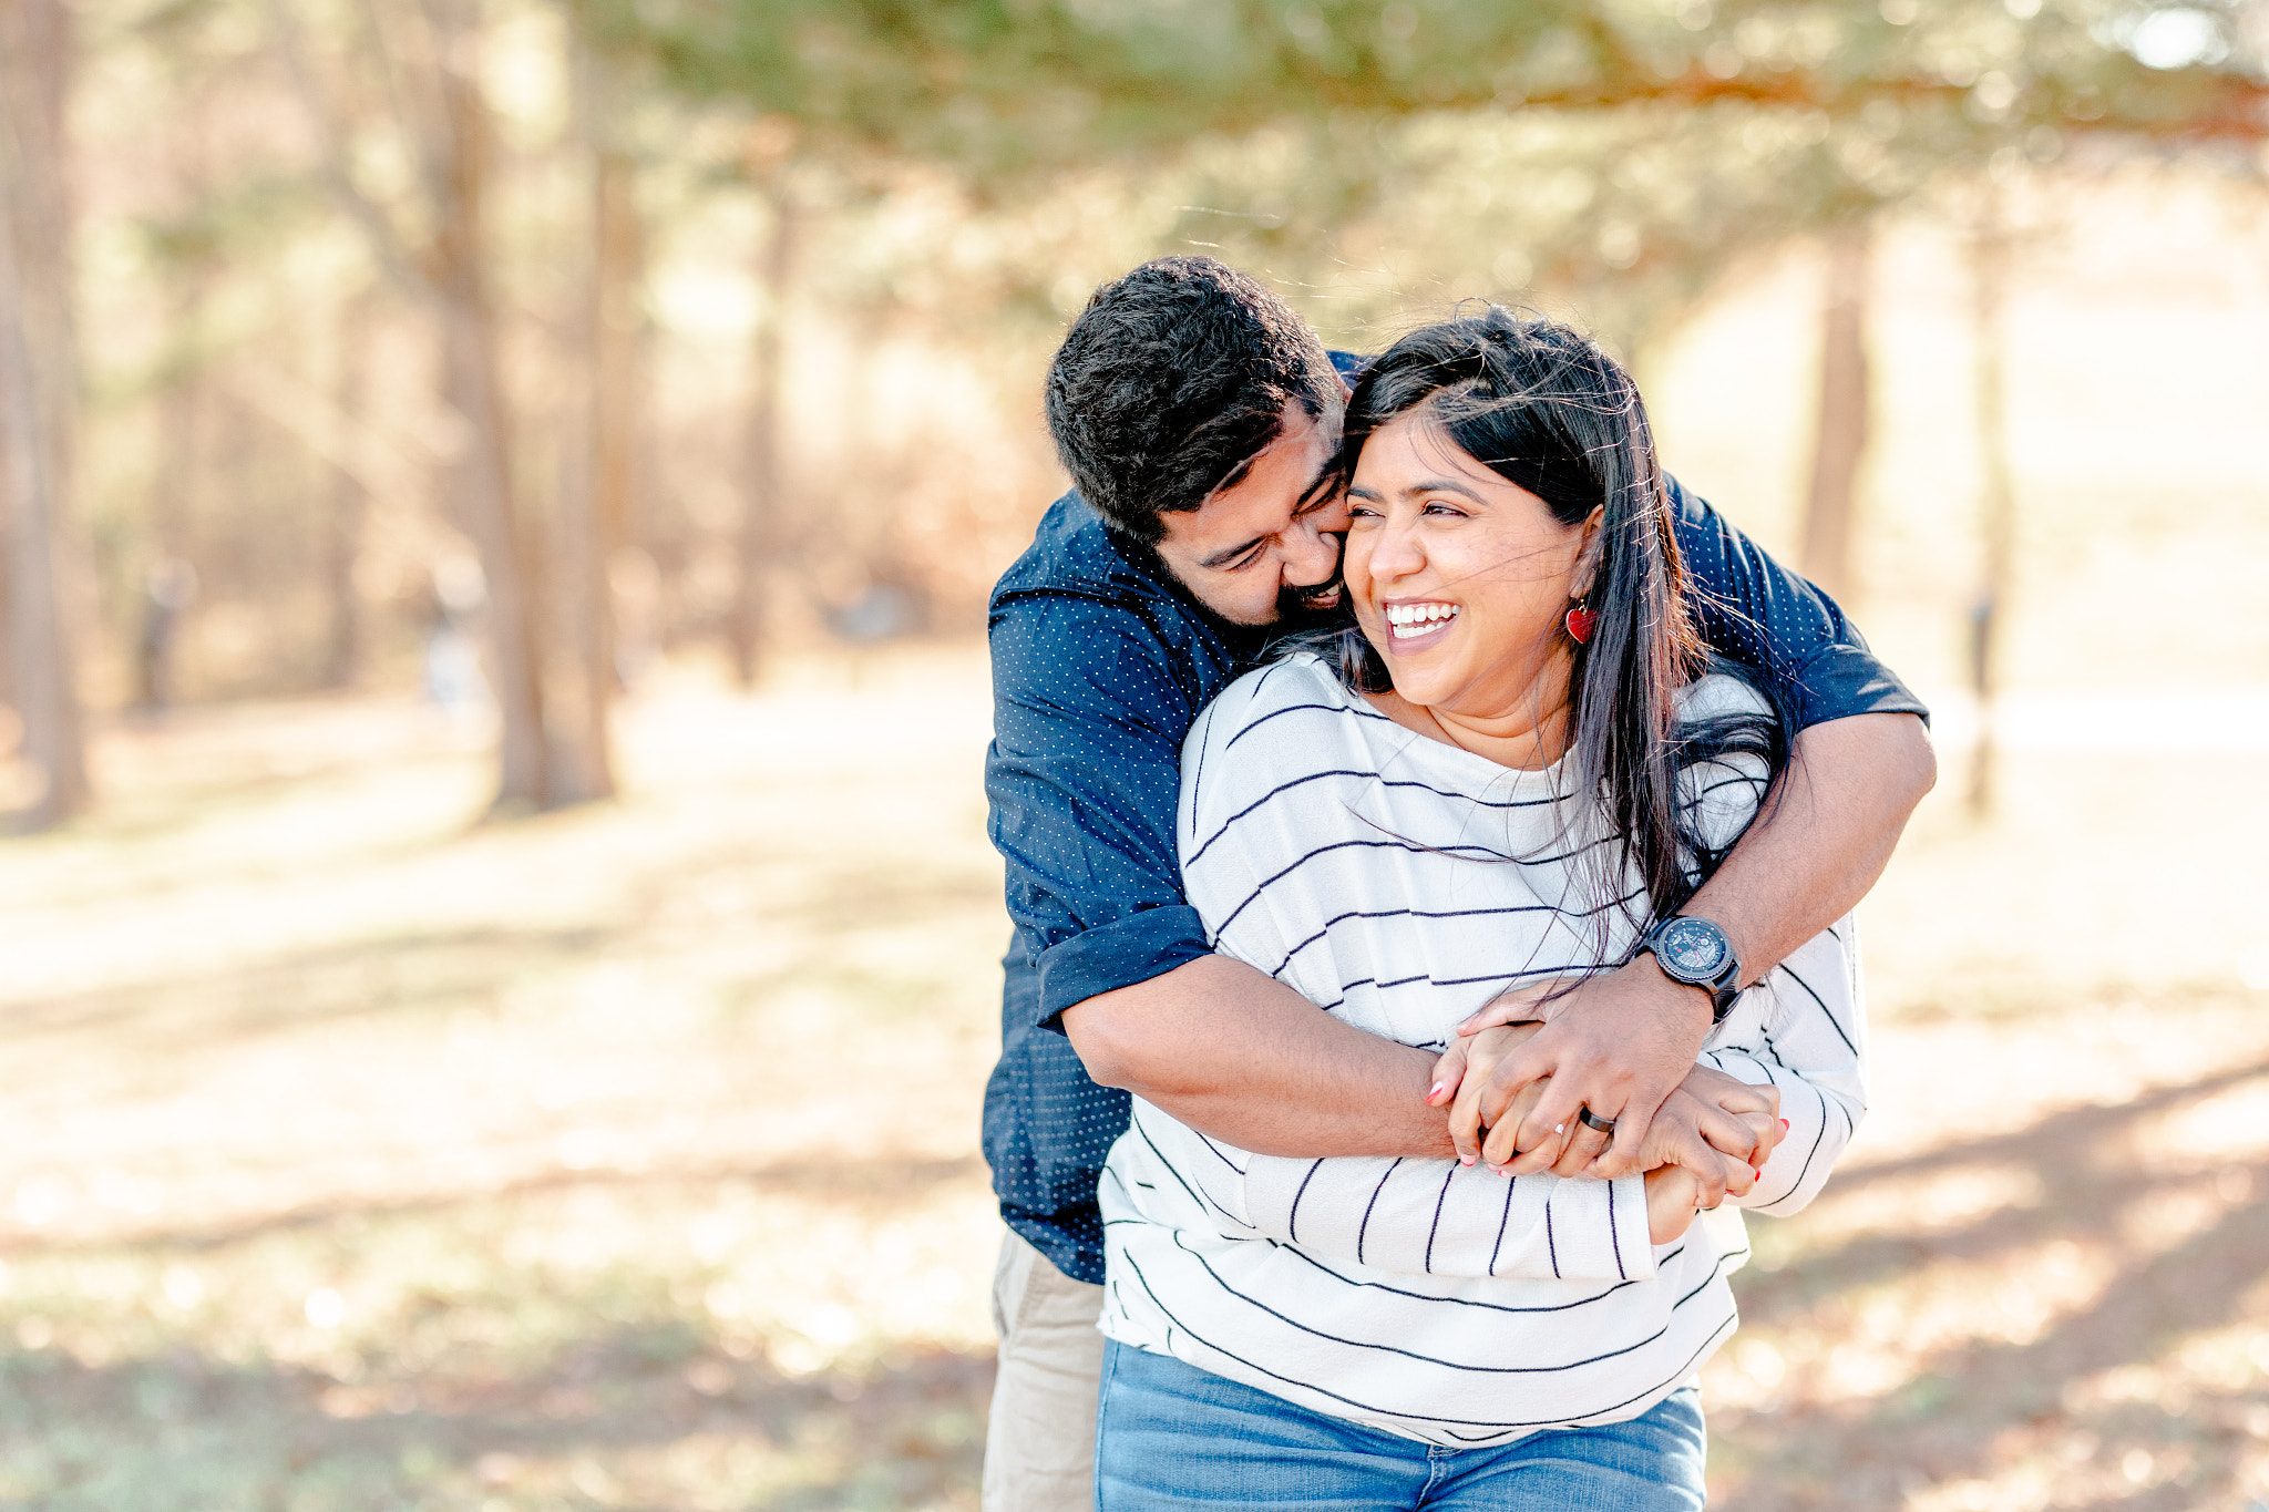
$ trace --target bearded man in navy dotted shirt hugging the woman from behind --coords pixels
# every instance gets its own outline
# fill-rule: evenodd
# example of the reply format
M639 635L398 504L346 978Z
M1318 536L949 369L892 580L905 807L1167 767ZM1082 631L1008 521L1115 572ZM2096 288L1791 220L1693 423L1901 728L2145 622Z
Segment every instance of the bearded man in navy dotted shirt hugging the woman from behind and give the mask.
M987 1512L1091 1505L1096 1174L1128 1127L1128 1093L1264 1154L1457 1154L1429 1106L1434 1054L1212 954L1180 891L1189 725L1273 628L1336 596L1346 519L1327 465L1343 401L1316 335L1209 258L1162 258L1096 290L1048 374L1048 426L1076 492L992 598L985 787L1017 941L985 1093L1010 1226ZM1704 632L1774 680L1806 725L1770 816L1684 909L1715 927L1747 984L1872 886L1933 759L1922 705L1833 603L1709 506L1684 492L1675 503ZM1527 1170L1627 1170L1724 986L1675 982L1640 954L1493 1056L1500 1088L1550 1077L1525 1127L1572 1129L1532 1149Z

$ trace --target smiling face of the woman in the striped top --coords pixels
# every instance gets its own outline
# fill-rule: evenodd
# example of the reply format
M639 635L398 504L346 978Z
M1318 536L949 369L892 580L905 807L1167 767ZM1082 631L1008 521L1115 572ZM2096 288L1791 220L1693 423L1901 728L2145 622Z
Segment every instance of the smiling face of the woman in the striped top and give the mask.
M1561 621L1591 533L1466 456L1427 408L1373 431L1348 487L1346 580L1395 691L1484 721L1566 700L1538 678L1554 662L1566 678Z

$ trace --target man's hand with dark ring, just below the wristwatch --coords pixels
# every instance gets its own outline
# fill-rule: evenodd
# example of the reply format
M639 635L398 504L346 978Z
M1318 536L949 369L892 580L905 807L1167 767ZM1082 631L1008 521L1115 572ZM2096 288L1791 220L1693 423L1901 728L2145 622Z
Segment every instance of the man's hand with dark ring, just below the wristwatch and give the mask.
M1622 970L1566 984L1507 993L1459 1025L1459 1031L1534 1018L1545 1027L1486 1072L1470 1065L1459 1086L1459 1108L1473 1097L1475 1120L1488 1124L1482 1158L1511 1163L1516 1177L1550 1170L1559 1177L1627 1177L1640 1170L1647 1124L1663 1099L1695 1068L1709 1038L1709 995L1679 986L1643 954ZM1468 1052L1470 1056L1470 1052ZM1439 1072L1439 1068L1436 1068ZM1534 1104L1513 1115L1513 1099L1550 1077ZM1439 1074L1436 1074L1439 1081ZM1577 1108L1616 1124L1609 1136L1579 1122ZM1450 1138L1457 1133L1452 1115Z

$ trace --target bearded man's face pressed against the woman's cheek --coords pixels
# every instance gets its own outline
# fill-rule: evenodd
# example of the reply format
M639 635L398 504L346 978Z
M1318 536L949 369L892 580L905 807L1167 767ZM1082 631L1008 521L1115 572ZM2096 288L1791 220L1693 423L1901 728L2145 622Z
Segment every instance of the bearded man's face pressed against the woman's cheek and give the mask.
M1348 503L1323 487L1339 447L1339 415L1284 406L1277 438L1196 510L1162 515L1166 569L1198 603L1239 626L1273 626L1289 610L1339 601L1339 544Z

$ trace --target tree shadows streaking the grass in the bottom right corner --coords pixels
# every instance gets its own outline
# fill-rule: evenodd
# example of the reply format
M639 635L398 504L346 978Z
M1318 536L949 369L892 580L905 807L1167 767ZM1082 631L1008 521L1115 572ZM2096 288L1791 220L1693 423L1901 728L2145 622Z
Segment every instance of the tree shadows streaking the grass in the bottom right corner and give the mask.
M2044 1199L1951 1231L1865 1235L1779 1272L1752 1272L1736 1283L1745 1322L1790 1324L1824 1301L1938 1260L1999 1260L2006 1269L2024 1263L2019 1251L2058 1238L2101 1240L2128 1260L2097 1306L2024 1342L1972 1340L1938 1351L1886 1396L1729 1415L1722 1426L1743 1462L1734 1501L1749 1512L1890 1512L1924 1485L1990 1476L2026 1453L2069 1458L2078 1446L2085 1464L2142 1469L2112 1469L2128 1489L2090 1505L2246 1505L2246 1410L2258 1399L2192 1387L2176 1401L2072 1405L2067 1387L2124 1365L2149 1367L2185 1337L2240 1322L2249 1292L2269 1279L2269 1161L2226 1165L2221 1174L2240 1174L2249 1197L2153 1251L2133 1240L2133 1208L2156 1179L2122 1152L2144 1120L2264 1077L2269 1061L1838 1174L1838 1195L1849 1199L1897 1177L2017 1165L2038 1177ZM2146 1460L2131 1460L2137 1451ZM2178 1485L2167 1478L2169 1464L2181 1467Z

